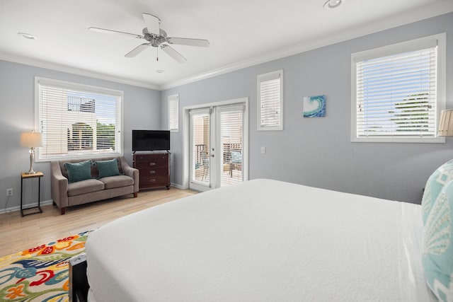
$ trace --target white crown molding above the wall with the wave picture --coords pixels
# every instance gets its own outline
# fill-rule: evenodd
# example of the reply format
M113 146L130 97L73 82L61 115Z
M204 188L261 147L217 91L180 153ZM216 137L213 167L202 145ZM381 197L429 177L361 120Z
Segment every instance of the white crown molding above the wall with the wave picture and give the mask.
M197 74L195 76L190 76L185 79L180 79L178 81L173 81L171 83L166 83L160 86L161 90L166 90L169 88L175 88L182 86L188 83L193 83L203 79L208 79L213 76L219 76L221 74L226 74L231 71L236 71L243 69L249 66L254 66L257 64L262 64L265 62L270 62L275 59L282 59L284 57L289 57L294 54L299 54L302 52L307 52L309 50L315 50L319 47L324 47L327 45L333 45L338 42L344 42L346 40L351 40L357 37L362 37L364 35L369 35L372 33L377 33L382 30L388 30L390 28L396 28L401 25L406 25L408 23L413 23L416 21L421 21L427 18L432 18L435 16L440 16L445 13L451 13L453 11L453 1L445 0L437 4L430 4L426 6L420 6L409 11L405 11L403 14L398 13L387 18L382 18L376 21L372 21L366 25L361 25L355 28L348 28L346 30L341 30L337 33L332 33L323 37L319 37L313 40L307 40L300 42L297 45L292 45L291 47L285 47L281 50L275 52L268 52L266 54L261 54L259 56L253 57L251 59L246 59L241 62L234 64L229 64L223 66L219 69L212 69L202 74Z

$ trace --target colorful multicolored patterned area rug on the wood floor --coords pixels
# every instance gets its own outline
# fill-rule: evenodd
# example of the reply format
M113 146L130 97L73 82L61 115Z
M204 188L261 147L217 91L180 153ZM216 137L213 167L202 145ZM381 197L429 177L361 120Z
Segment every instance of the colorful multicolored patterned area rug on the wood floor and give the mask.
M0 257L0 301L69 301L68 260L91 231Z

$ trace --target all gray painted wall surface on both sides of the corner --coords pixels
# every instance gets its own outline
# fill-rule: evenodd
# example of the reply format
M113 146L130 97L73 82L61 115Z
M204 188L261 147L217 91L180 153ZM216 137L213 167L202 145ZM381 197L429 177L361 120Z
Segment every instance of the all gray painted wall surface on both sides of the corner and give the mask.
M420 202L425 181L453 157L447 144L378 144L350 142L350 54L416 37L447 32L447 108L453 108L453 13L385 30L292 57L251 66L166 91L0 60L0 211L18 207L20 173L28 170L28 149L19 145L21 132L33 129L34 76L113 88L125 93L124 152L132 164L131 130L166 129L168 95L179 93L180 108L233 98L249 98L249 175L274 178L343 192ZM256 130L256 76L284 70L285 124L281 132ZM302 118L302 97L327 95L327 115ZM162 104L162 105L161 105ZM160 113L160 115L159 115ZM180 123L182 118L180 117ZM260 154L260 146L266 154ZM183 183L182 132L171 134L172 182ZM42 170L42 200L50 200L49 163ZM12 187L13 197L6 197ZM36 185L25 187L30 199Z

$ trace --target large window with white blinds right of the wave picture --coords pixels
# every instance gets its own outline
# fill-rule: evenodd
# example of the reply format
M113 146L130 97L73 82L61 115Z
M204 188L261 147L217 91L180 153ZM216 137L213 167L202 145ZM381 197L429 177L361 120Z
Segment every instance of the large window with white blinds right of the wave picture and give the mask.
M445 34L357 52L351 64L352 141L445 141Z

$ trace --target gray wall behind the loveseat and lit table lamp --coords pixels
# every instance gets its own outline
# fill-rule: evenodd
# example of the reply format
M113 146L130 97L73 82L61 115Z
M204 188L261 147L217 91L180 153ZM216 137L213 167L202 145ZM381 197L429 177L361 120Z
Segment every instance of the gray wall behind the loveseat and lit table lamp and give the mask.
M34 127L35 76L124 91L123 150L131 165L132 129L159 129L161 124L160 91L0 60L0 212L6 208L6 202L11 208L18 207L21 201L20 173L28 171L30 161L28 148L20 146L19 138L21 132ZM49 201L50 163L35 163L33 168L45 173L41 180L41 199ZM6 197L6 189L10 187L14 194ZM37 182L25 180L24 202L36 202L37 190Z

